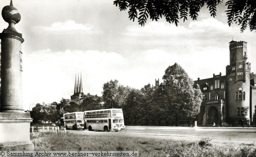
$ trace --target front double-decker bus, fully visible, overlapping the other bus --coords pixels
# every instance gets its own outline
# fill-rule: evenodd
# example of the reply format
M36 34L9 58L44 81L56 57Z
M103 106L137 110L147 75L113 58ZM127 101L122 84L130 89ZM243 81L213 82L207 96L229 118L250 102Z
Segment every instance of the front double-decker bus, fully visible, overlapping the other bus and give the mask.
M125 129L122 109L84 111L84 121L89 131L120 131Z

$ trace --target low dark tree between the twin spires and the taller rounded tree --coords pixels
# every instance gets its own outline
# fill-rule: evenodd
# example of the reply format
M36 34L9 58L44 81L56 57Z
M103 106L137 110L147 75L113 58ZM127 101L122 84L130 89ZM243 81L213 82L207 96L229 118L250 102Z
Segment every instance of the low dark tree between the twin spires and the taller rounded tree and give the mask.
M94 109L102 109L101 106L101 97L98 95L83 95L82 97L82 110L94 110Z

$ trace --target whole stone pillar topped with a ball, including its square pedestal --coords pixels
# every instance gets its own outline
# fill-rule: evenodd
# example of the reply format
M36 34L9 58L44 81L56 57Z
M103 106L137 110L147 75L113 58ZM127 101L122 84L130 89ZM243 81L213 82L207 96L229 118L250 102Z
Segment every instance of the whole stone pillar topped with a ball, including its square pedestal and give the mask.
M14 25L20 21L20 13L12 5L2 9L8 28L1 39L1 102L0 102L0 150L34 150L30 141L30 113L24 112L22 103L22 34Z

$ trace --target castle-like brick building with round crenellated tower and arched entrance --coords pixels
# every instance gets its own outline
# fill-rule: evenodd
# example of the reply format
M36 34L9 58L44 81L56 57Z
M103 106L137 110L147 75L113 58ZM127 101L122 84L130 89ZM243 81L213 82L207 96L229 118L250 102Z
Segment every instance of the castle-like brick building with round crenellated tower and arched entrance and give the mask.
M230 65L226 66L226 76L213 74L212 78L194 81L200 87L203 101L198 124L203 126L228 124L243 125L254 123L256 105L256 74L250 73L247 62L247 43L229 43Z

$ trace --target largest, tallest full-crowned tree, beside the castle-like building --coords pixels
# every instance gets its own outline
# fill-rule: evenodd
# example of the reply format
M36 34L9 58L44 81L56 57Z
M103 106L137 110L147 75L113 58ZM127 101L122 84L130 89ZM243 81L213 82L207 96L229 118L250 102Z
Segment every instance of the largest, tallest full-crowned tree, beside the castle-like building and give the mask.
M165 70L163 80L167 94L166 105L169 114L175 117L176 125L178 115L194 118L199 113L202 102L201 91L193 88L194 81L177 63Z

